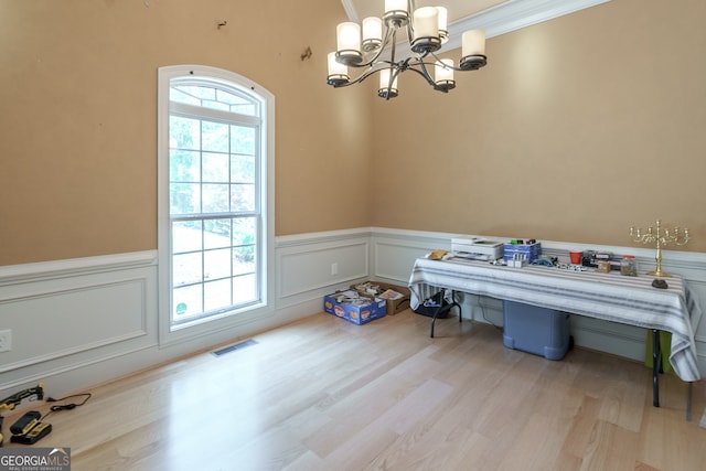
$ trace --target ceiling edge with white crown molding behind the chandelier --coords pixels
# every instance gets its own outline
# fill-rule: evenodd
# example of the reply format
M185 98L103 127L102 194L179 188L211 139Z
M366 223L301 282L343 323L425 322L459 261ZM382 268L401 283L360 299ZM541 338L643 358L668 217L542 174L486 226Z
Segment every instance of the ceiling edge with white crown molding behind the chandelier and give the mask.
M446 7L449 14L449 49L453 34L469 29L485 30L488 38L507 33L564 14L590 8L611 0L416 0L419 7ZM351 21L366 17L382 17L385 0L341 0Z

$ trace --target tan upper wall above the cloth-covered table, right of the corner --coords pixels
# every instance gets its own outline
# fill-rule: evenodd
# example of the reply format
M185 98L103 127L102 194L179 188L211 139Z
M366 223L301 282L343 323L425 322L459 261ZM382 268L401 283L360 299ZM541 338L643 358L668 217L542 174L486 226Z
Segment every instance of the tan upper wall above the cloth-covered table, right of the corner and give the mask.
M373 225L630 245L662 218L705 251L704 19L613 0L491 39L446 96L403 75L374 107Z

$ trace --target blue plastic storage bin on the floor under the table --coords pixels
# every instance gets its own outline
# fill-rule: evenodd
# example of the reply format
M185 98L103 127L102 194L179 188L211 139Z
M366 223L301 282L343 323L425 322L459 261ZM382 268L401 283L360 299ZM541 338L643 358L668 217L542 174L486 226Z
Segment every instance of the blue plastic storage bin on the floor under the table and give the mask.
M503 345L561 360L571 346L569 314L515 301L503 301Z

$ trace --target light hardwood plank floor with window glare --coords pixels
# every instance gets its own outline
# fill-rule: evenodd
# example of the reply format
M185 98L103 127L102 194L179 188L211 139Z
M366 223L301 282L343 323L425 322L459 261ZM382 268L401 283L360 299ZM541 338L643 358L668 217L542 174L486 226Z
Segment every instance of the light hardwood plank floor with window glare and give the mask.
M685 384L662 375L653 408L639 363L581 349L548 361L458 318L428 334L411 311L365 325L318 313L96 386L47 417L38 446L71 447L73 471L706 467L704 382L687 422Z

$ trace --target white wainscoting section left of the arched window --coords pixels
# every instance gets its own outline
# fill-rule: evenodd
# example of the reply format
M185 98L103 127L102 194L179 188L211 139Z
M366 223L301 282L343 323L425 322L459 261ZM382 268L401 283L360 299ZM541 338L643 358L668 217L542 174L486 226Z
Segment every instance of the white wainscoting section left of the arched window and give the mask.
M154 253L1 267L0 329L12 332L0 393L52 378L63 394L125 374L131 365L106 365L157 347Z

